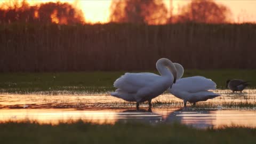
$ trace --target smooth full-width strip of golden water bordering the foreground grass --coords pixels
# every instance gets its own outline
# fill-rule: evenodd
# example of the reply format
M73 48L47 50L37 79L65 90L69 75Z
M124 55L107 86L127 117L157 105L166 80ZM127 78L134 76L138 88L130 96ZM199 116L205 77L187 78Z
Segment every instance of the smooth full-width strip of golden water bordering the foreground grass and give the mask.
M78 120L96 124L114 124L129 120L149 123L179 122L197 128L246 126L256 127L256 111L253 110L193 110L171 108L147 110L135 109L0 109L0 123L9 121L36 121L39 124L70 123Z

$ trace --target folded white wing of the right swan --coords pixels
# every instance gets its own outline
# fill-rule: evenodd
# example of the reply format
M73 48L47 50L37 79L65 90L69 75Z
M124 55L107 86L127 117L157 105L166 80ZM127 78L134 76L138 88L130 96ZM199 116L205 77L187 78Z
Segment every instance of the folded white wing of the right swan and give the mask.
M200 91L215 90L216 84L211 79L203 76L193 76L178 79L176 83L172 85L172 89L195 93Z

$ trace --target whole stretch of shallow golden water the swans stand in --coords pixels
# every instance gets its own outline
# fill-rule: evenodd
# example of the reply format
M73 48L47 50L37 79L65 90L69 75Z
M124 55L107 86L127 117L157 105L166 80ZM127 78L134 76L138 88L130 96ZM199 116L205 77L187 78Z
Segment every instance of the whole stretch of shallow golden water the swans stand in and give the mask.
M0 95L0 122L37 121L58 124L81 119L92 123L142 121L173 123L198 128L247 126L256 127L256 90L244 93L215 91L221 97L198 102L184 109L182 100L163 94L153 100L152 111L147 103L135 110L135 103L125 102L108 94L90 95ZM238 104L237 104L238 103Z

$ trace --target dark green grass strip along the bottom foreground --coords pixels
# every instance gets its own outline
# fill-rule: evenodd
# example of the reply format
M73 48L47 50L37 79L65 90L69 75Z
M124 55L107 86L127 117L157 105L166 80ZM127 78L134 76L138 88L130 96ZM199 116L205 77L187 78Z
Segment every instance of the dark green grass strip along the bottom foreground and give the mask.
M0 124L0 143L255 143L256 129L198 130L178 123L114 125L76 122L60 125Z

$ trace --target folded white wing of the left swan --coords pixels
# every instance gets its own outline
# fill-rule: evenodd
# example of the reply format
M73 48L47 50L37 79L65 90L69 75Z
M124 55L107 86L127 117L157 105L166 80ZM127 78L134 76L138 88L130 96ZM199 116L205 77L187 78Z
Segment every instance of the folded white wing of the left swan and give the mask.
M114 82L121 91L135 93L142 87L153 84L159 75L153 73L125 73Z

